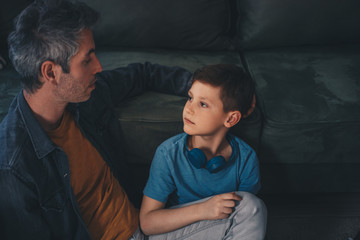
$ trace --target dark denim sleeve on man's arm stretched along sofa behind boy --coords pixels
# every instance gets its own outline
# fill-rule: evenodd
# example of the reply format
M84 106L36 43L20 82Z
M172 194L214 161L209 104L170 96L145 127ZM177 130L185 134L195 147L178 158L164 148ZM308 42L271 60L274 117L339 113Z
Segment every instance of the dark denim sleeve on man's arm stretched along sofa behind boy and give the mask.
M122 100L147 90L185 96L190 88L192 74L180 67L146 62L103 71L98 74L98 78L107 84L116 106Z

